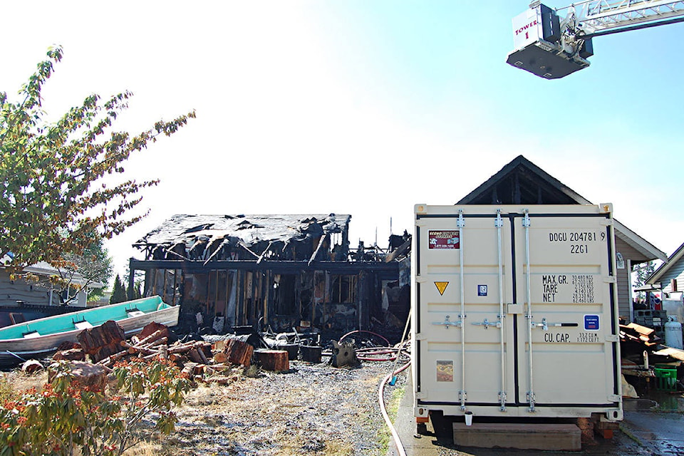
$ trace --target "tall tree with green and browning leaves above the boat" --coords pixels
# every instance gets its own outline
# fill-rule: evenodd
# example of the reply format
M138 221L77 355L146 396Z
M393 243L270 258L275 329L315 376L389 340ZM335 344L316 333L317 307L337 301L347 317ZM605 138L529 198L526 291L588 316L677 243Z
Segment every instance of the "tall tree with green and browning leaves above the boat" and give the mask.
M16 270L38 261L83 254L92 234L110 239L138 222L130 217L140 190L158 180L126 180L108 186L103 177L124 172L123 162L160 135L170 136L195 112L160 120L138 135L113 130L132 93L108 100L90 95L81 105L49 123L41 89L61 60L62 48L48 58L19 91L19 101L0 92L0 259L13 257Z

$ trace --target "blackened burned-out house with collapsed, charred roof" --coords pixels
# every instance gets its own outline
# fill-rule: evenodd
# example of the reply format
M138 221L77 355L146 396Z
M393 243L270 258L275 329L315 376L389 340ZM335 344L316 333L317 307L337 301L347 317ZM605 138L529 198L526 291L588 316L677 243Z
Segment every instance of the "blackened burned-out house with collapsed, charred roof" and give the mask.
M181 306L186 328L369 329L408 314L410 237L349 249L350 215L175 215L134 247L129 290ZM199 314L199 316L197 315ZM199 323L197 323L197 320Z

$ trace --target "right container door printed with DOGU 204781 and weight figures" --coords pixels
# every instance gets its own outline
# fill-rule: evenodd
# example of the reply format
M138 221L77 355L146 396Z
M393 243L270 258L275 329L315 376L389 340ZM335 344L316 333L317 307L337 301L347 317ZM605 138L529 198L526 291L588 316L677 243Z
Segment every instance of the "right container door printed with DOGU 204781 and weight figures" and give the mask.
M516 402L529 412L616 402L610 222L606 214L514 219L516 299L524 304Z

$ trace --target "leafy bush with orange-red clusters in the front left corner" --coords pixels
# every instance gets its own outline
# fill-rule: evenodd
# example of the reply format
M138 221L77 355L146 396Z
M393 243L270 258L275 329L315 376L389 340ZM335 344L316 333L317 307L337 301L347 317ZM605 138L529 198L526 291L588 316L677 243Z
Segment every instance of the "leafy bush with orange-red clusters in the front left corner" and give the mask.
M136 442L134 432L153 415L164 435L175 428L172 411L190 390L178 368L163 361L114 366L115 395L73 381L67 362L50 366L51 383L26 390L0 408L0 456L121 455Z

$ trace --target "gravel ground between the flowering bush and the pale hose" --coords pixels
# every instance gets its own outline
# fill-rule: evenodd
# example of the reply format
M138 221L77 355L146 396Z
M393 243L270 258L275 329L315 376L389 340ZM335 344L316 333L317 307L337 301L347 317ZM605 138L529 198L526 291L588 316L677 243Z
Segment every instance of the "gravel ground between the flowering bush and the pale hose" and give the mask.
M287 373L234 373L227 385L200 385L177 410L165 455L385 455L389 432L378 385L392 366L358 368L290 362ZM242 372L236 371L236 372ZM385 388L396 406L405 374Z

